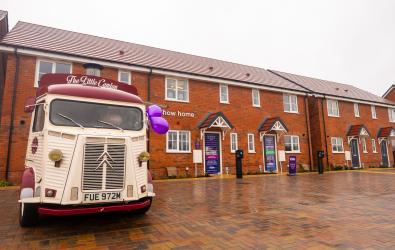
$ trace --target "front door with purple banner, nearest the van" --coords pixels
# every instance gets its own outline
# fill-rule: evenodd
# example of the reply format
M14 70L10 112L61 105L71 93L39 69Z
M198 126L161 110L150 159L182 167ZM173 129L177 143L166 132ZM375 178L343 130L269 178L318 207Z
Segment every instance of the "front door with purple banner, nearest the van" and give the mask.
M221 136L204 133L204 166L207 174L221 173Z

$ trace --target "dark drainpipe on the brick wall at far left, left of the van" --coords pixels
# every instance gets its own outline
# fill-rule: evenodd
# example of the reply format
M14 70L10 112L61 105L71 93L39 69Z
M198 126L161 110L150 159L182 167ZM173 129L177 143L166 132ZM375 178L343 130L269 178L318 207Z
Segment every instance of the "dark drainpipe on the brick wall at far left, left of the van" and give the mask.
M7 163L5 169L5 179L8 181L8 174L10 171L10 159L11 159L11 145L12 145L12 135L14 133L14 117L15 117L15 102L16 102L16 91L17 91L17 84L19 80L19 55L18 49L15 48L15 75L14 75L14 83L13 83L13 90L12 90L12 102L11 102L11 118L10 124L8 128L8 150L7 150Z

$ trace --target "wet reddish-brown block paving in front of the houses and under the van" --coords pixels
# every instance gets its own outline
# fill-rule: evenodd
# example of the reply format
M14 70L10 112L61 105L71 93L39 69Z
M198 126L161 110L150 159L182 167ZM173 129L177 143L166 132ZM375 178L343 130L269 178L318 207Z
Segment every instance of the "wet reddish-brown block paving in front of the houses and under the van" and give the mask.
M395 172L156 183L142 217L46 218L20 228L0 191L0 249L395 249Z

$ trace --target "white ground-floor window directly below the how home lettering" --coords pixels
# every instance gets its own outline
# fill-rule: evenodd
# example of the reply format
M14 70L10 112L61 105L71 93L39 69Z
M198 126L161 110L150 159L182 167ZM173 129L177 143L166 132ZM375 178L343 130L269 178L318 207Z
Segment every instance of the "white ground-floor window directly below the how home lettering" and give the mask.
M169 130L166 136L166 152L189 153L191 133L189 131Z

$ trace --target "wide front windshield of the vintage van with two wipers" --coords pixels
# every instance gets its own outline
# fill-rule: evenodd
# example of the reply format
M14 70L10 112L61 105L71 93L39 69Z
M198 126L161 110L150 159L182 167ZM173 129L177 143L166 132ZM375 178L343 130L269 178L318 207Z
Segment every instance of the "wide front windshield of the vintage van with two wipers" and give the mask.
M141 130L143 112L137 107L56 99L49 120L58 126Z

